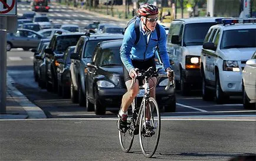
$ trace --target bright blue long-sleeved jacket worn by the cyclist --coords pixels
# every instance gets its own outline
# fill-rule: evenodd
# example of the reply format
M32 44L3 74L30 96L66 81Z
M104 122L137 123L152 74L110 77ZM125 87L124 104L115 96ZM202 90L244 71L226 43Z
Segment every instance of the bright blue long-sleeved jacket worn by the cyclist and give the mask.
M147 35L143 34L142 26L140 24L140 39L135 45L136 32L135 22L130 24L124 32L123 43L120 48L120 56L127 71L134 68L132 60L145 61L154 56L155 47L158 44L160 57L162 58L164 68L170 68L169 56L166 51L166 32L163 26L159 25L160 39L157 40L156 29L150 34L147 43ZM140 22L141 23L141 22Z

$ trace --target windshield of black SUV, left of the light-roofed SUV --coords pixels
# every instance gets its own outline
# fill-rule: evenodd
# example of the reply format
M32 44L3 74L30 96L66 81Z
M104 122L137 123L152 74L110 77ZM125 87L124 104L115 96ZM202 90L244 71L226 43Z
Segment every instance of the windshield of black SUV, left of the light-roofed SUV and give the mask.
M78 39L81 35L71 35L71 36L58 36L57 45L55 46L55 51L64 52L67 50L68 46L77 45Z

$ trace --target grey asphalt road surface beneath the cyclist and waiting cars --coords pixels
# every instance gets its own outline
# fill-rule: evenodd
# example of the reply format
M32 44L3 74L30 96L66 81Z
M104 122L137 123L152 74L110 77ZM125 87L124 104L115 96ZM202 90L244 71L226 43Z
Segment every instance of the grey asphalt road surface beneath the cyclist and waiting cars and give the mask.
M22 49L7 52L7 70L15 86L48 119L1 120L0 160L153 160L143 157L137 136L131 153L122 152L113 110L97 116L38 88L32 54ZM255 110L244 110L241 97L216 105L203 101L198 91L186 97L177 91L176 96L177 111L161 113L162 133L154 159L229 160L256 152Z

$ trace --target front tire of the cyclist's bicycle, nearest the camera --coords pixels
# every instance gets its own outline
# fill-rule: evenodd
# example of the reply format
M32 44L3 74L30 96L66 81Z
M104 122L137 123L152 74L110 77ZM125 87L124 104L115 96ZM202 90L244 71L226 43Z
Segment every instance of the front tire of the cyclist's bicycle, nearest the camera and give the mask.
M139 125L139 139L140 139L140 147L142 149L142 153L146 157L152 157L157 149L159 139L160 139L160 129L161 129L161 120L160 120L160 112L155 98L149 98L150 108L152 109L152 104L154 104L155 109L153 109L153 118L151 120L151 125L154 126L155 135L150 137L145 136L145 130L143 132L143 118L145 117L145 113L142 110L142 114L140 115L140 125ZM147 103L146 103L147 105ZM151 110L152 111L152 110Z

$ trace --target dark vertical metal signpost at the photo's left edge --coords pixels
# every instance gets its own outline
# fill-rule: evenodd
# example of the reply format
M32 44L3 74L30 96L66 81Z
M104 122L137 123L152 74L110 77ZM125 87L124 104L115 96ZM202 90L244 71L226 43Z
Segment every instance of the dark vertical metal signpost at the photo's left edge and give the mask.
M0 16L0 113L6 113L6 16Z

